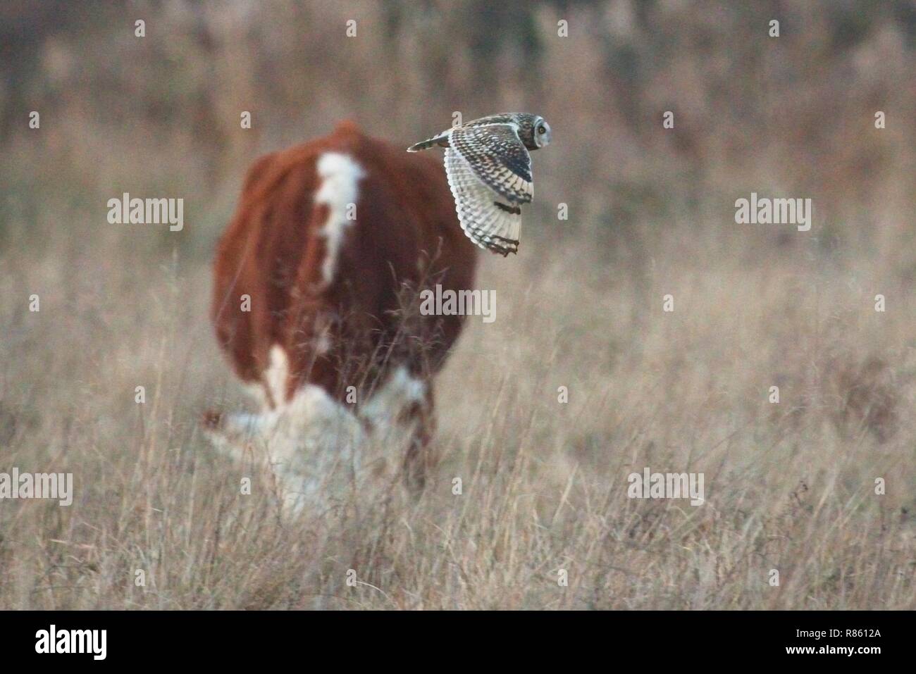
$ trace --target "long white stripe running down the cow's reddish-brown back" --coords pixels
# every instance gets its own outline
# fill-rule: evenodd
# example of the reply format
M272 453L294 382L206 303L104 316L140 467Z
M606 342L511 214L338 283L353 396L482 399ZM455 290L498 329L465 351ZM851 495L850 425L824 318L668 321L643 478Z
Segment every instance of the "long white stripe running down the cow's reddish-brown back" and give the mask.
M320 234L327 241L327 255L322 262L322 281L330 284L337 266L346 229L355 221L348 220L349 204L359 197L356 183L365 178L365 171L354 158L339 152L325 152L318 159L318 177L321 187L315 192L315 203L328 207L328 220Z

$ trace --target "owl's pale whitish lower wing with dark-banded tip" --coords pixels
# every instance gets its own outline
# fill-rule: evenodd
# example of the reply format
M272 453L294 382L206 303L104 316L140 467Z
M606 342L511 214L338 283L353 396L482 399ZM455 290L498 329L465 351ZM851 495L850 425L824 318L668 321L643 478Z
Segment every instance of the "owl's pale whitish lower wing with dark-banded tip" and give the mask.
M517 253L521 231L518 203L504 203L505 195L490 188L455 147L445 149L445 174L464 234L474 244L504 257Z

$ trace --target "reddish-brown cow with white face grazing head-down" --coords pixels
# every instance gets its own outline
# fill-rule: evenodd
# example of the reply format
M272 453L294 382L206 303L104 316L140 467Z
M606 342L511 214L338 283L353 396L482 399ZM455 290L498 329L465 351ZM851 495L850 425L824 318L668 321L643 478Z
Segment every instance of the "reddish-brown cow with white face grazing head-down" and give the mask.
M212 313L263 411L210 413L211 436L226 449L227 439L284 435L270 462L314 482L308 473L321 469L300 454L333 453L346 434L397 421L412 429L405 475L420 486L431 378L463 317L421 315L416 298L432 284L471 288L475 265L435 158L351 122L259 158L217 248Z

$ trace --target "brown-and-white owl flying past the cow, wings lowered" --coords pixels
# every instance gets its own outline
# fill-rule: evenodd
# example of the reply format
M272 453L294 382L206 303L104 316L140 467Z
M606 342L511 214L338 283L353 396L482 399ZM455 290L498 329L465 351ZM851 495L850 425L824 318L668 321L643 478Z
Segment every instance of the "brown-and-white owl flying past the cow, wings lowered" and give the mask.
M518 252L521 204L534 196L528 152L550 142L551 126L540 115L503 113L454 126L407 151L445 147L445 174L464 234L505 257Z

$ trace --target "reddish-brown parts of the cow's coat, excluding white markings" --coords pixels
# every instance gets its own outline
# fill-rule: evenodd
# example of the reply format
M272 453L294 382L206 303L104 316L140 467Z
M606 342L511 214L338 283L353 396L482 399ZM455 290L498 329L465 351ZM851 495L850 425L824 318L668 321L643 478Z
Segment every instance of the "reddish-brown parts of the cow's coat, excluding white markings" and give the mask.
M325 152L348 155L365 173L356 219L327 287L325 239L316 232L328 207L313 201L321 183L316 163ZM471 288L475 265L476 250L457 222L442 164L344 122L330 136L257 159L248 171L217 247L213 323L245 382L264 384L273 345L287 351L287 399L310 383L342 403L346 387L356 386L363 400L394 365L407 366L430 392L425 405L410 411L420 423L409 459L418 459L432 428L431 376L463 317L420 316L416 293L436 283ZM240 310L243 295L251 298L250 311ZM331 338L327 353L314 348L322 331ZM271 406L282 402L268 398ZM418 463L409 467L421 480Z

